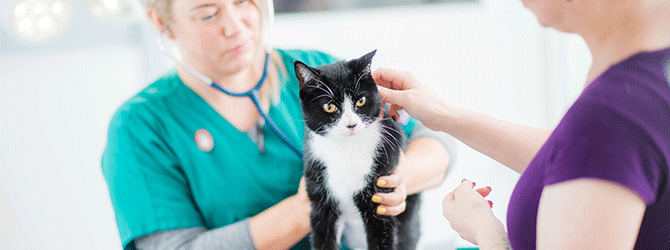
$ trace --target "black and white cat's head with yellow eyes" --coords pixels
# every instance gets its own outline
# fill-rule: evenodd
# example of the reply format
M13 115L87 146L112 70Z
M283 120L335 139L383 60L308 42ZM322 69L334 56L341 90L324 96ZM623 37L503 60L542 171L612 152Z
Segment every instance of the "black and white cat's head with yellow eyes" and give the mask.
M370 74L375 52L316 68L294 63L308 129L349 136L365 132L379 119L381 98Z

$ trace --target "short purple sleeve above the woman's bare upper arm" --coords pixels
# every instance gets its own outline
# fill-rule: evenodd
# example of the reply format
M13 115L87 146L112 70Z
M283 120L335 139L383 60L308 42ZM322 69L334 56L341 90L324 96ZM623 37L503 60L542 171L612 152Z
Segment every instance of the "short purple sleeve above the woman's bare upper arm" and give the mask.
M645 203L657 199L662 179L658 151L633 118L603 104L582 101L568 112L569 126L547 159L544 185L578 178L610 181L637 193Z

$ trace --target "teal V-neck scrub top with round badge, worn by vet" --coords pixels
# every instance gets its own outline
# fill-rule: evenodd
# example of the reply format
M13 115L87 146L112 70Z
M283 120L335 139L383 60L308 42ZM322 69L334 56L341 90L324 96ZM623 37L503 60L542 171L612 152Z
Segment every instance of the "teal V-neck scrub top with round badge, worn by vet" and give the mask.
M293 62L316 67L338 59L318 51L277 51L288 77L282 77L281 101L269 116L302 148L305 128ZM408 136L416 122L403 126ZM203 129L213 139L208 152L196 144L196 131ZM102 171L124 249L158 231L233 224L294 195L302 159L267 125L263 135L265 152L260 152L176 70L121 105L109 125ZM309 249L309 241L292 249Z

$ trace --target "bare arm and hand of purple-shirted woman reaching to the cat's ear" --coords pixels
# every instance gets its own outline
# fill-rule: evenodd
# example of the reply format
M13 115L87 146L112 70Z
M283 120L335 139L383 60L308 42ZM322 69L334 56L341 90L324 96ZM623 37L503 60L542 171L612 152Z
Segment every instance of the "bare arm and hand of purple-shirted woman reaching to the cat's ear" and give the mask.
M473 149L522 173L551 134L455 107L410 72L380 68L373 73L391 113L404 109L426 127L447 132Z

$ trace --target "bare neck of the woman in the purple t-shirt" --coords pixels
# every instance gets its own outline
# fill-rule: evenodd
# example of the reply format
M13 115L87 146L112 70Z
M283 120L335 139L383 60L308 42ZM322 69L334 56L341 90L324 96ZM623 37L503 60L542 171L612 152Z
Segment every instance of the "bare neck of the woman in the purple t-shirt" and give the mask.
M589 47L593 64L587 84L614 64L643 51L670 46L670 2L665 0L606 0L598 13L582 20L577 30ZM583 13L583 12L582 12Z

